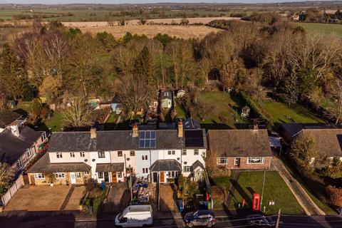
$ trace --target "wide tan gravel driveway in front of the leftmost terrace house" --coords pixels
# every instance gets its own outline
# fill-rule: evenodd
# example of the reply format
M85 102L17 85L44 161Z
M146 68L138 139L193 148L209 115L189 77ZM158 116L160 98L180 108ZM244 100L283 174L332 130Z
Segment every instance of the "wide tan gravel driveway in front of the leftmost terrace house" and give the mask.
M78 210L84 187L34 186L21 188L5 207L5 211Z

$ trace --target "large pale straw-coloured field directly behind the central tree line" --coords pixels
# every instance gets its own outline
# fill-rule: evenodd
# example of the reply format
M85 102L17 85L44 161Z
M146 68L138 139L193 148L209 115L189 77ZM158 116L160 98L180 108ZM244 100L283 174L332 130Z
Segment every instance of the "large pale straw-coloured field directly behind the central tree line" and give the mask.
M90 32L92 34L107 31L112 33L115 38L120 38L125 33L133 33L138 35L145 35L152 38L157 33L167 33L169 36L175 36L178 38L203 38L208 33L217 33L222 31L218 28L210 28L207 26L169 26L169 25L157 25L157 26L107 26L101 28L81 28L82 32Z

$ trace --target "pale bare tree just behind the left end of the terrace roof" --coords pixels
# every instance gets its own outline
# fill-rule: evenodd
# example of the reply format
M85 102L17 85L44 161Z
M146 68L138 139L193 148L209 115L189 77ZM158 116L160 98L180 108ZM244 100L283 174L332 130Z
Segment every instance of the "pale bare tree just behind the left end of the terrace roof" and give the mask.
M75 128L86 127L90 125L91 113L92 110L86 100L75 98L71 107L64 113L64 120Z

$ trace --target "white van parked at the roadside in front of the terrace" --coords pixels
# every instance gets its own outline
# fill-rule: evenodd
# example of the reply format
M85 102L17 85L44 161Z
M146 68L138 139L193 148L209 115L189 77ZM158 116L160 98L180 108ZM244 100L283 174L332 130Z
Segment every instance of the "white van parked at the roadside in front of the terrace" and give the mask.
M148 227L152 226L151 205L131 205L115 217L118 227Z

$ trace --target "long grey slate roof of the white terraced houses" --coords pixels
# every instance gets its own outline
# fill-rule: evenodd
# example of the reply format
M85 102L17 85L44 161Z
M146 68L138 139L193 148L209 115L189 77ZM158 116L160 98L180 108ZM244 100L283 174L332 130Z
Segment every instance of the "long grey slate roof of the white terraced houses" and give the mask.
M113 151L113 150L163 150L185 148L207 148L204 130L197 130L197 134L179 138L177 130L155 130L156 145L153 148L140 148L139 137L132 137L132 130L98 131L96 139L90 140L90 132L52 133L49 142L49 152L79 152L79 151ZM200 133L200 134L199 134ZM199 140L202 140L199 143ZM190 142L197 142L197 146Z

